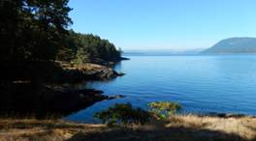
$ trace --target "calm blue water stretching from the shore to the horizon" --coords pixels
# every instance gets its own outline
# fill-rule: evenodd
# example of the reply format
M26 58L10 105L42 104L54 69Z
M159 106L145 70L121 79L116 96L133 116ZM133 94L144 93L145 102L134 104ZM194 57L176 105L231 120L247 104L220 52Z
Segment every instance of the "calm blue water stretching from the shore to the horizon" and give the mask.
M256 56L127 56L116 66L126 75L110 82L90 82L86 88L103 90L124 99L104 100L67 120L94 123L95 111L115 102L146 103L171 100L188 112L228 112L256 115Z

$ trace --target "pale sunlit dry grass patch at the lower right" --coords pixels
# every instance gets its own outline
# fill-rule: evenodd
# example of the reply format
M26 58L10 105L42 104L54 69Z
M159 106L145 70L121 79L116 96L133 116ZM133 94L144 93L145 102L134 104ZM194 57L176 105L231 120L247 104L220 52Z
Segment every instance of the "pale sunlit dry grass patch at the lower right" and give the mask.
M248 140L256 139L256 118L218 118L195 115L174 116L166 127L195 127L227 134L236 134Z

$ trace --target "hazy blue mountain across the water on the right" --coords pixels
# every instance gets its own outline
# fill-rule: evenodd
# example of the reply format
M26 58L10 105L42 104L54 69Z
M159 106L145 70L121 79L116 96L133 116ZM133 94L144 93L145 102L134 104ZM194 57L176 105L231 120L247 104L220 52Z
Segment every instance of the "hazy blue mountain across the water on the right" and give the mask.
M231 38L204 50L202 53L256 53L256 38Z

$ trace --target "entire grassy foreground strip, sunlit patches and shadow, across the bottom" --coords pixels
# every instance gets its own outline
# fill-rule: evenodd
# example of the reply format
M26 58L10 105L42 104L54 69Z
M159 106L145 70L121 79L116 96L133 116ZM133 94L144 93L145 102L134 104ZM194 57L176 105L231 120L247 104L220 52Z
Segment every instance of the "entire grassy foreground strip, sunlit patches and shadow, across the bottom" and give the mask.
M144 126L106 127L64 121L0 120L1 141L256 140L256 119L173 116Z

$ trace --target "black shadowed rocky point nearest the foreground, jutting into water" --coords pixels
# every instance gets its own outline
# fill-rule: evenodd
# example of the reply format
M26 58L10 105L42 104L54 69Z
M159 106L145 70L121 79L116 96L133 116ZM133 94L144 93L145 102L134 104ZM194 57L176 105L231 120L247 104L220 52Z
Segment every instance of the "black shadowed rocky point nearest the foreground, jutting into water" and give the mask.
M85 109L92 104L124 96L106 96L94 89L75 89L30 83L10 84L2 89L0 117L58 119Z

